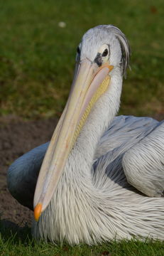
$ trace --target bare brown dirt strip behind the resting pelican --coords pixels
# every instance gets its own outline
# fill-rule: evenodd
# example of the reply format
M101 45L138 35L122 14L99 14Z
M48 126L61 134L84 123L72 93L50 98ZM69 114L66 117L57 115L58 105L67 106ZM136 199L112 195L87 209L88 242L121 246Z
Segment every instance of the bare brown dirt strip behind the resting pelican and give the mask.
M155 119L164 119L164 113ZM6 171L13 160L50 140L57 119L23 121L18 117L0 117L0 217L1 222L31 225L33 212L12 198L6 187ZM6 225L6 224L5 224Z

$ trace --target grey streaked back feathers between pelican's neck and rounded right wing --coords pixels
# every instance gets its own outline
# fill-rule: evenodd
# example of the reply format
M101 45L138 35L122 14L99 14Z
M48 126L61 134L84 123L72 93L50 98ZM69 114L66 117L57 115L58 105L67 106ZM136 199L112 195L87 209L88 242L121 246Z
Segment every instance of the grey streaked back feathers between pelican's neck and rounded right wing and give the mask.
M92 168L95 186L111 190L111 184L114 189L115 185L119 184L134 190L124 174L122 159L126 151L138 144L157 126L158 121L150 117L116 117L97 145Z

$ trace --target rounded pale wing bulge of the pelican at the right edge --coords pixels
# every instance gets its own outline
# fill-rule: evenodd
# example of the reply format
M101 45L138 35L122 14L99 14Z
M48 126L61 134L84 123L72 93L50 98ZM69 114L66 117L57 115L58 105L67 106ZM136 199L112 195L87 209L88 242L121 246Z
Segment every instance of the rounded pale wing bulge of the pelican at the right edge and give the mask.
M129 183L147 196L164 195L164 120L124 154Z

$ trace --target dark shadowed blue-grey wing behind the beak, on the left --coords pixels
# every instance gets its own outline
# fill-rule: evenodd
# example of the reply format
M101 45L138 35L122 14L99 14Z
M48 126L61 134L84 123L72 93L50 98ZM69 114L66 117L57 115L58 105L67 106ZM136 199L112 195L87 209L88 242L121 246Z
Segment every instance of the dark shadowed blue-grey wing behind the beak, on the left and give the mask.
M36 181L48 145L49 142L23 154L11 164L7 172L7 185L11 195L31 210Z

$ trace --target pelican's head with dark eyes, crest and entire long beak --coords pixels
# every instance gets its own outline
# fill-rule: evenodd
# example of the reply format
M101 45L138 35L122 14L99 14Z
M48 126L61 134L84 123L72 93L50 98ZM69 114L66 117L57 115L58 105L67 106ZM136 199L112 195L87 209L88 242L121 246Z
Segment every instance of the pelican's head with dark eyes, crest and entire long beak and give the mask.
M89 29L77 47L75 75L70 95L40 169L34 196L34 215L50 203L65 162L92 108L110 87L114 74L126 73L129 43L119 28L111 25Z

